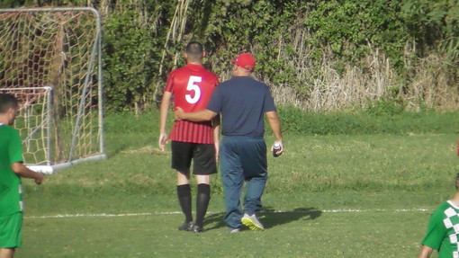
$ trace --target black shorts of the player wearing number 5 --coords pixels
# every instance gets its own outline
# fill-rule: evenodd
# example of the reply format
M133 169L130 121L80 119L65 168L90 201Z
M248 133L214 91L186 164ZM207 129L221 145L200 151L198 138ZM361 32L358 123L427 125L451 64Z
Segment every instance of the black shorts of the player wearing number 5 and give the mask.
M193 174L217 173L213 144L171 142L172 168L186 173L193 159Z

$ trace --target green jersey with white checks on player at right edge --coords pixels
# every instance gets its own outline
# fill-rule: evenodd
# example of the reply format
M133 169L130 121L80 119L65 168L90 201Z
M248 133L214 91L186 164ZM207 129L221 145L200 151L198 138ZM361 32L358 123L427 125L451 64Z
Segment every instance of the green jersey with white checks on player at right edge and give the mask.
M437 249L439 258L459 258L458 237L459 207L448 200L430 217L422 245Z

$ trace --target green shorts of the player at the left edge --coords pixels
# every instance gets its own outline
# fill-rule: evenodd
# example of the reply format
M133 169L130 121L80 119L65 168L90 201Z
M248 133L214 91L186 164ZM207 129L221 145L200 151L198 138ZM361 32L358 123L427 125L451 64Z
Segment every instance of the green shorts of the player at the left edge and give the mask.
M23 212L0 217L0 248L21 247L23 244Z

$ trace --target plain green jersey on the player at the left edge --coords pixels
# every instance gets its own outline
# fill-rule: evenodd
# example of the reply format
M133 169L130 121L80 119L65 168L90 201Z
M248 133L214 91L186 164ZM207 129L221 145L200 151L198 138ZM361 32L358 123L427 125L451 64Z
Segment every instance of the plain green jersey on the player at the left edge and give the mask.
M21 178L11 165L23 162L23 146L16 129L0 124L0 217L23 210Z

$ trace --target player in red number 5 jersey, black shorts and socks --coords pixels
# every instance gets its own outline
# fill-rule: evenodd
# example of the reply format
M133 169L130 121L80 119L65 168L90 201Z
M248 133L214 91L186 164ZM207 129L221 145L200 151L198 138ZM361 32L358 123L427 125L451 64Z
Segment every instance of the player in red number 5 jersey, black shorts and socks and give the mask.
M166 120L170 102L185 111L200 111L211 99L218 85L218 77L202 67L205 52L202 44L192 41L184 52L186 66L172 71L167 77L166 89L161 101L159 121L159 148L164 151L168 137ZM172 168L176 170L176 191L184 212L184 223L178 230L203 232L202 222L211 199L211 174L217 173L220 139L220 118L211 121L175 121L170 133ZM190 165L197 183L196 219L193 222L192 194L190 189Z

